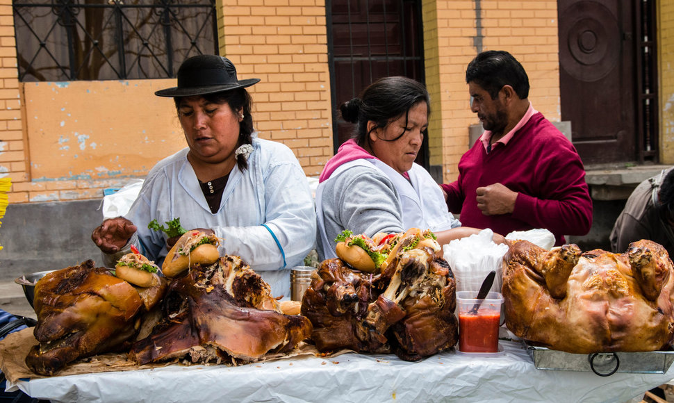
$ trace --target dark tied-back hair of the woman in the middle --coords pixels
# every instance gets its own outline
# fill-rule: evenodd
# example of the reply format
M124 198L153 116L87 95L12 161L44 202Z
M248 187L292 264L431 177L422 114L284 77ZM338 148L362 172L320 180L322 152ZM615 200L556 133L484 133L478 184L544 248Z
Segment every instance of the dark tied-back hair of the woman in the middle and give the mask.
M360 97L341 104L339 110L345 121L356 124L353 138L363 146L365 143L369 144L371 131L386 127L402 115L409 118L409 110L421 101L426 102L430 115L431 100L424 85L404 76L391 76L368 85ZM370 120L375 122L375 126L368 131ZM405 131L397 138L387 141L395 141L404 134Z

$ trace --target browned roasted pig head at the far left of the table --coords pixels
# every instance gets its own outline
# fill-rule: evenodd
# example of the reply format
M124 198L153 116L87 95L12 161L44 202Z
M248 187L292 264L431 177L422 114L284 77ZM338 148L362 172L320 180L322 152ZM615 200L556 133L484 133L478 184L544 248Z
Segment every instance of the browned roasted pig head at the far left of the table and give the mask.
M26 365L53 375L76 359L128 348L143 301L131 284L88 260L40 279L34 305L33 334L40 344L28 353Z

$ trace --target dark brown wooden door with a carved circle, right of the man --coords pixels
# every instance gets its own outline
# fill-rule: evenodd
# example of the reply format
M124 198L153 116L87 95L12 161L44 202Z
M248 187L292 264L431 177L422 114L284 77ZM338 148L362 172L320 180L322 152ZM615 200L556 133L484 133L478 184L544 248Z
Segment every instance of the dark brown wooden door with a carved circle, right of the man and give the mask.
M586 165L639 158L633 1L558 1L561 120Z

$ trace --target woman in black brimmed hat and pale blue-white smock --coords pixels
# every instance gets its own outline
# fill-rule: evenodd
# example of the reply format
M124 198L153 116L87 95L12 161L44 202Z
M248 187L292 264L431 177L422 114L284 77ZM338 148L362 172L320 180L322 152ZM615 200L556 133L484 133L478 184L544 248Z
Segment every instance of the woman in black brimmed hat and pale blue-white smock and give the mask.
M173 239L147 228L179 217L186 229L211 229L220 254L241 256L289 296L288 270L313 247L315 211L309 184L285 145L254 135L251 98L229 59L201 55L178 71L178 86L157 91L173 97L188 148L155 165L124 217L105 220L92 240L113 267L131 245L161 265Z

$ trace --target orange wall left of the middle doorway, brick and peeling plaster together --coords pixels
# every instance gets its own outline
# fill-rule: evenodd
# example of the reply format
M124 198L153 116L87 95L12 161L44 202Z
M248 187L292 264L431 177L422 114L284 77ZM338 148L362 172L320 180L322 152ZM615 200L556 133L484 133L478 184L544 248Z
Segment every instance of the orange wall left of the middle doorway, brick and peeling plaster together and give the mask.
M261 138L295 151L307 175L332 156L325 9L322 0L224 0L220 53L249 88ZM224 29L223 27L227 27ZM174 79L17 81L11 2L0 0L0 174L10 203L103 197L143 177L186 146L172 99L154 92Z

